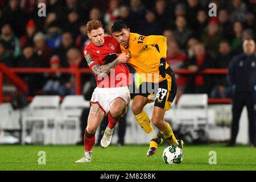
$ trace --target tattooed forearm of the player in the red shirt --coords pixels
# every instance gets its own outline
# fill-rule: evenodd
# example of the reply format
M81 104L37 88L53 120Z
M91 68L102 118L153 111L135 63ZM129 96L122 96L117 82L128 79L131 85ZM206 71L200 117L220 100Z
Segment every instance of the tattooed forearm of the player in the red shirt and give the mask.
M114 69L118 65L118 59L115 59L109 64L100 65L96 64L94 67L92 67L92 72L94 75L97 75L98 77L101 77L103 75L108 75L111 69Z

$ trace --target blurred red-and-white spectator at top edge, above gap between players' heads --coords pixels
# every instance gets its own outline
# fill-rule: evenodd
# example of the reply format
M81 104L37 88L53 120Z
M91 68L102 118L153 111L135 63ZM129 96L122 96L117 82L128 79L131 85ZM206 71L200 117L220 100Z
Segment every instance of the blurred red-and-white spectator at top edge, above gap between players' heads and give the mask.
M104 22L105 24L108 24L109 22L113 22L115 19L117 19L119 15L119 0L111 0L109 2L109 9L106 10L105 16L104 16Z

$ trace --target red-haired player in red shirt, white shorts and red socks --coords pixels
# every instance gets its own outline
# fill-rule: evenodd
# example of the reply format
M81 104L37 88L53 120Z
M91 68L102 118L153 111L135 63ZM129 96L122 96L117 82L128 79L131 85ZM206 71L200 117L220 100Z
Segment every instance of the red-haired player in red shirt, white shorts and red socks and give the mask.
M113 36L104 36L100 21L91 20L86 28L92 42L84 48L84 56L94 73L97 87L90 100L88 125L84 135L85 153L76 163L91 162L95 133L106 114L109 117L109 124L101 139L101 147L109 146L114 127L118 119L126 113L130 102L128 85L131 78L125 64L130 56L121 53L119 43Z

